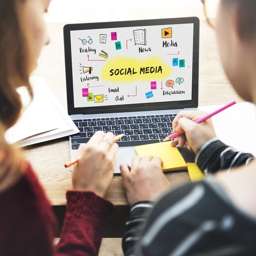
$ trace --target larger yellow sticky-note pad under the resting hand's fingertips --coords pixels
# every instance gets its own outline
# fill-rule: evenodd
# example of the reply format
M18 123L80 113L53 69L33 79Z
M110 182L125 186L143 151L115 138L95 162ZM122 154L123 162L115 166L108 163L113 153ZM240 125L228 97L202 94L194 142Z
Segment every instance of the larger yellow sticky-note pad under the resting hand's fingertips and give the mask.
M168 142L137 146L135 151L140 157L148 155L160 157L163 161L164 172L186 169L187 166L180 151Z

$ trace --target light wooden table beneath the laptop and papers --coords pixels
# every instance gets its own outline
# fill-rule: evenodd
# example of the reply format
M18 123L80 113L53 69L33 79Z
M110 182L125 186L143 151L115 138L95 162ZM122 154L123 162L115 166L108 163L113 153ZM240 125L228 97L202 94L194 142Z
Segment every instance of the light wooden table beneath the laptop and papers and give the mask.
M51 44L45 47L39 60L36 76L44 77L58 100L67 110L63 26L65 23L49 23L48 30ZM241 102L239 96L227 81L219 60L215 32L201 21L200 32L200 72L199 72L199 105L225 104L232 100ZM27 159L32 163L49 200L59 215L64 215L65 194L71 189L71 169L64 168L64 162L70 160L68 138L54 140L25 148ZM189 182L187 172L167 174L172 186ZM106 237L121 237L129 208L122 188L122 177L115 176L106 195L116 205L116 212L106 227Z

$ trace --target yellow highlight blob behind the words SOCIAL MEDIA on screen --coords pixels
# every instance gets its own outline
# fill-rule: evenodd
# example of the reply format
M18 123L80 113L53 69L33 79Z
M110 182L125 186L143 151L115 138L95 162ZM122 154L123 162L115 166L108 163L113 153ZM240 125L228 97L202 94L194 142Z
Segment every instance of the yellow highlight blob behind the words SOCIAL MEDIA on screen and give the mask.
M146 59L116 57L110 58L103 66L100 79L112 83L132 83L166 79L172 76L172 68L160 57Z

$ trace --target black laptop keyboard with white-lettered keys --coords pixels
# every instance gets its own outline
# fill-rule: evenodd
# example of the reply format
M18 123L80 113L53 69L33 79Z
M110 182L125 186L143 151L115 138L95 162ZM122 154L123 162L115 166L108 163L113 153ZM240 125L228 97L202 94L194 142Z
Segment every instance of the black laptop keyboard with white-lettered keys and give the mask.
M172 121L177 114L124 116L73 120L80 133L71 136L72 149L87 143L96 131L125 134L116 143L119 147L159 143L172 133Z

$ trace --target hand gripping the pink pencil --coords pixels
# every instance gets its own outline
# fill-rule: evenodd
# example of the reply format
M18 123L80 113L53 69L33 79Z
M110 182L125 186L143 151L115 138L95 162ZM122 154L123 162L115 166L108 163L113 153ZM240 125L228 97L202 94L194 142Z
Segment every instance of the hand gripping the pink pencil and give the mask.
M197 153L208 140L215 138L212 119L207 119L201 124L193 122L206 115L204 111L180 111L172 122L172 128L173 132L185 131L185 134L178 136L171 145L180 147L186 145L189 150Z

